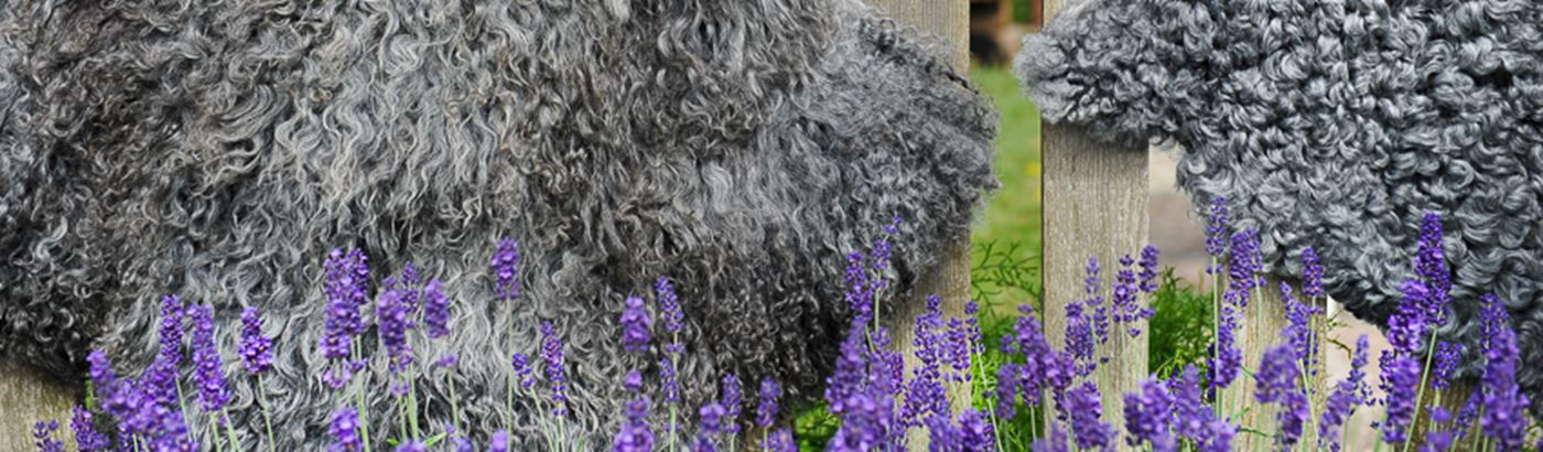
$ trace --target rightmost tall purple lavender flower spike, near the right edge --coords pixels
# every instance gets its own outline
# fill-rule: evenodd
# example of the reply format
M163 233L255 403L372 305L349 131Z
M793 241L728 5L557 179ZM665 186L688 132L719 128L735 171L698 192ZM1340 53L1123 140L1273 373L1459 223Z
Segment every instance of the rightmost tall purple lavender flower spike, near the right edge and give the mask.
M1484 350L1483 387L1484 417L1480 426L1484 435L1495 440L1498 450L1520 450L1526 441L1529 418L1526 415L1528 396L1517 384L1517 333L1509 327L1509 315L1504 304L1494 302L1484 307L1481 318L1486 324L1497 324L1487 338L1491 347Z

